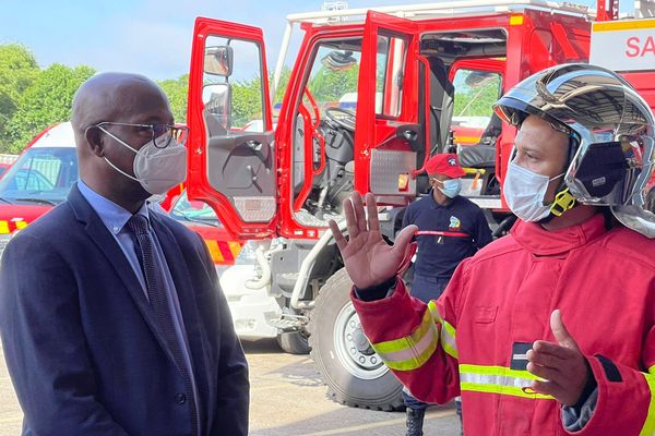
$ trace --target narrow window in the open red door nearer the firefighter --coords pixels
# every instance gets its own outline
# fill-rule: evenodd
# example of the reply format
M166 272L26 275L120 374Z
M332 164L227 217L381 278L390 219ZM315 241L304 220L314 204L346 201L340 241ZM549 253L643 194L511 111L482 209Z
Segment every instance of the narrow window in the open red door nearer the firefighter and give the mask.
M403 102L403 71L407 43L395 36L378 37L376 113L396 118Z

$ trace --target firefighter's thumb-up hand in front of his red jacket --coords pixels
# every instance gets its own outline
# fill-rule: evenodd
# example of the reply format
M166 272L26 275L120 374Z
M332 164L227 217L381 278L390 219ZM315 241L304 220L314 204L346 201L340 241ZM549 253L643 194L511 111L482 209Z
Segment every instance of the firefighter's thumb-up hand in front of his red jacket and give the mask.
M569 335L559 310L550 314L550 329L558 343L536 341L527 352L527 371L545 380L534 380L532 389L555 397L565 405L580 400L590 374L584 355Z

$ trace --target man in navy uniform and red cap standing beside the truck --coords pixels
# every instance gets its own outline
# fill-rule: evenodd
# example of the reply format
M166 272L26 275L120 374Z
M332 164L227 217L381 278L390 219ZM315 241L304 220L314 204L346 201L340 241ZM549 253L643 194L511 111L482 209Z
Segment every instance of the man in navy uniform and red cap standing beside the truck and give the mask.
M410 293L427 303L441 295L460 262L491 242L491 231L483 209L460 195L465 172L456 155L434 155L426 164L426 171L430 193L407 207L403 227L418 227ZM421 436L428 404L408 391L403 391L403 397L407 407L407 436ZM458 401L457 415L461 420Z

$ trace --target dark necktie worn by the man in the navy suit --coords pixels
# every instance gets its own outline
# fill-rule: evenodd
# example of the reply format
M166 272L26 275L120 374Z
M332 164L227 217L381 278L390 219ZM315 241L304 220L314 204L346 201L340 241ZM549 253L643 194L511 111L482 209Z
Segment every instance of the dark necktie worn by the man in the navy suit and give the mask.
M180 348L181 346L175 332L172 313L170 305L168 304L168 296L166 295L164 286L164 276L159 268L157 268L155 262L155 242L153 240L153 234L150 231L147 218L143 215L133 215L132 218L128 220L128 227L132 230L134 237L136 237L134 249L136 251L136 257L139 257L139 263L141 264L141 269L143 270L143 276L145 277L150 306L155 315L157 325L164 335L166 343L170 349L175 364L179 368L182 379L184 380L184 390L187 391L186 401L189 401L191 422L193 425L192 428L193 433L196 433L198 416L193 397L193 387L189 375L190 368L187 367Z

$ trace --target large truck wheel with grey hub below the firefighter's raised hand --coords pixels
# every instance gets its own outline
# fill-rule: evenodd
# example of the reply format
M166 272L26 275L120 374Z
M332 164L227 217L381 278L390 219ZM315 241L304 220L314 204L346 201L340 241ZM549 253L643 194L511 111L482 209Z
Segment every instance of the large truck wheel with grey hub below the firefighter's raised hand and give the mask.
M350 302L353 282L344 268L321 288L310 312L309 344L327 396L352 408L403 408L401 383L372 350Z

